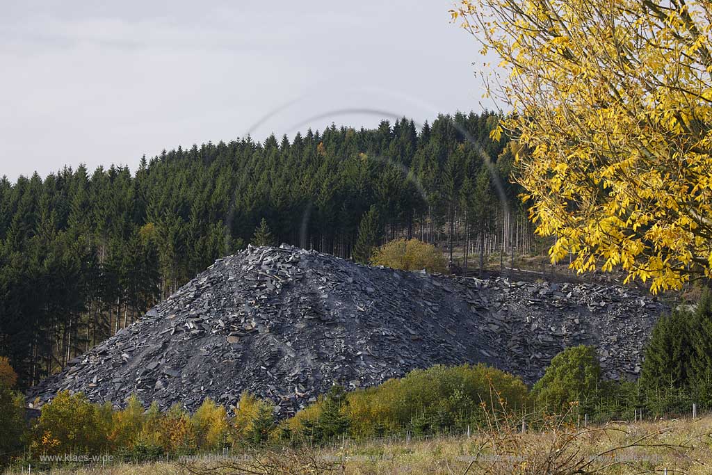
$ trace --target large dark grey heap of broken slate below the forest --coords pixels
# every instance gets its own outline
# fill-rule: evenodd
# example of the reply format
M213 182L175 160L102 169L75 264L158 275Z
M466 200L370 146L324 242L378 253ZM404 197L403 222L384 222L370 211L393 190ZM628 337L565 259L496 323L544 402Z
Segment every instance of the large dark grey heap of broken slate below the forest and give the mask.
M219 259L145 317L31 388L95 402L243 391L286 417L334 382L377 385L414 368L486 362L532 383L562 348L600 348L607 377L633 377L664 306L622 287L430 276L360 266L291 246Z

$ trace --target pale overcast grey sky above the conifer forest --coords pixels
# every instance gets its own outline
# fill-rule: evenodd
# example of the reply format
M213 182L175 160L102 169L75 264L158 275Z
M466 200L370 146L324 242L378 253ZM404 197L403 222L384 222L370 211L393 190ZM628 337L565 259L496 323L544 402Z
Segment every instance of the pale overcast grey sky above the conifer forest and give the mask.
M451 4L4 0L0 175L480 110L483 60Z

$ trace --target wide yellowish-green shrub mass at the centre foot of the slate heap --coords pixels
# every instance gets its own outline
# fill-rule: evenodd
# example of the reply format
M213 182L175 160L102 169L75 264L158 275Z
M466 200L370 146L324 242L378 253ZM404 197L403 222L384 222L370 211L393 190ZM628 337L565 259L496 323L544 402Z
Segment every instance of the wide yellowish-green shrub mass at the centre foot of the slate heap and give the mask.
M486 408L519 410L527 403L528 391L518 377L486 365L436 365L348 392L340 404L333 397L320 398L283 425L291 434L302 434L313 442L328 441L345 433L346 427L356 438L407 429L437 434L481 423Z

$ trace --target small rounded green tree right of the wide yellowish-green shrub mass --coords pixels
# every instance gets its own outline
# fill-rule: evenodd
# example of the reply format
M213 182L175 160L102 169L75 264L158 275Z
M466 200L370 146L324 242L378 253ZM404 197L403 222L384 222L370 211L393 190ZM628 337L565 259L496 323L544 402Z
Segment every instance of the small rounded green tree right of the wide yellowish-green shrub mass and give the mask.
M532 388L540 407L562 413L572 402L589 404L600 384L601 365L592 346L566 348L553 357L544 376Z

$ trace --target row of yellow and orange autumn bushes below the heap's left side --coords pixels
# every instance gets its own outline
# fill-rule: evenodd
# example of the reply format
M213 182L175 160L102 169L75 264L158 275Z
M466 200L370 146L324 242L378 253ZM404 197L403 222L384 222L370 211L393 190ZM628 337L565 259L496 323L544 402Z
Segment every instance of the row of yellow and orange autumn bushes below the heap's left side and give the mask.
M0 427L0 444L5 439L21 439L11 428L23 428L24 422L10 422L24 421L24 401L13 397L9 389L0 386L0 421L2 417L9 421ZM145 409L136 395L127 400L123 409L112 409L110 404L89 402L81 393L60 392L43 405L28 447L35 455L110 452L131 461L160 459L167 453L214 452L226 444L266 442L276 428L272 409L271 403L247 392L241 395L233 419L225 407L210 399L189 414L180 404L162 411L157 402L152 402ZM4 428L8 428L5 438Z

